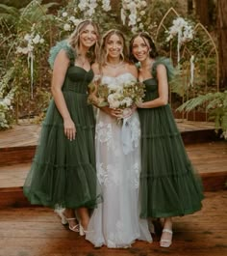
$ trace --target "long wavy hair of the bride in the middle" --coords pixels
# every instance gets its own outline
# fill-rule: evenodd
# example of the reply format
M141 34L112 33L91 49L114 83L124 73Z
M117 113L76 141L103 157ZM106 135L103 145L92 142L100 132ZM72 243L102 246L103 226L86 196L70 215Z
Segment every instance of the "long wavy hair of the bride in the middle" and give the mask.
M126 40L123 33L117 29L111 29L107 31L102 37L101 47L100 47L100 68L105 66L107 63L108 52L106 49L106 45L109 39L113 35L116 35L123 44L123 49L122 49L122 52L120 53L121 60L128 62L128 48L127 48Z

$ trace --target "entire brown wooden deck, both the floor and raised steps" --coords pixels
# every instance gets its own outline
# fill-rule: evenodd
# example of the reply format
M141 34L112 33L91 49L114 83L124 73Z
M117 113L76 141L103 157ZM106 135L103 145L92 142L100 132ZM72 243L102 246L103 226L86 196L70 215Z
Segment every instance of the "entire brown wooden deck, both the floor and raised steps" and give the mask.
M212 123L178 121L177 125L207 192L200 212L174 218L170 248L159 246L159 236L154 236L151 244L135 242L128 249L93 248L64 227L53 210L31 207L22 185L38 144L40 126L23 124L1 131L0 256L227 255L227 190L223 190L227 142L216 139Z

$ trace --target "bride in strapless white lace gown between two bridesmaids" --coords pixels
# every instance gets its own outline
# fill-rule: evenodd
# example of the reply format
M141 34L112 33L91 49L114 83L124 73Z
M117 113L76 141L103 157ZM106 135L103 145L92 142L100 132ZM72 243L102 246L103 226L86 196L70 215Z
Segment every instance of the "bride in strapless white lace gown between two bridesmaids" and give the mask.
M137 81L138 71L126 58L123 34L108 31L102 40L101 64L92 67L100 75L101 84L123 86L125 82ZM132 108L123 133L117 122L121 114L120 109L107 106L97 113L96 167L103 203L93 211L86 232L86 239L96 247L105 244L110 248L127 248L136 240L152 242L147 220L139 218L139 115ZM131 143L130 147L126 142Z

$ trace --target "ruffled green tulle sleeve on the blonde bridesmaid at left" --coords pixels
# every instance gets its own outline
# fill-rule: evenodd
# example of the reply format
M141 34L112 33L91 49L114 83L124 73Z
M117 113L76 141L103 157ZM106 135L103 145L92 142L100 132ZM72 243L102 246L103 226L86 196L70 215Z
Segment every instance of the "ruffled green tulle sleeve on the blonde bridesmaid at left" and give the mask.
M50 49L50 54L49 54L49 58L48 58L48 63L50 64L51 69L53 70L54 68L54 63L55 63L55 59L58 55L58 53L64 49L69 60L70 60L70 65L74 65L75 62L75 53L73 51L73 49L70 47L70 45L67 43L66 40L63 40L61 42L56 43L55 46L53 46Z

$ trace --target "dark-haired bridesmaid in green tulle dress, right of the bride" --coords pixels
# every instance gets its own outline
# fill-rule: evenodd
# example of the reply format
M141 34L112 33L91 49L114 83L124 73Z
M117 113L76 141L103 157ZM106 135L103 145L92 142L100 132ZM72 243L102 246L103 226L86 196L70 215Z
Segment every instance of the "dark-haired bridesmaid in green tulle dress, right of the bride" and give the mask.
M168 104L171 62L158 58L151 37L141 32L130 41L130 58L139 62L146 94L138 103L141 126L140 194L143 218L164 218L160 246L172 242L172 216L201 209L202 185L194 174Z

